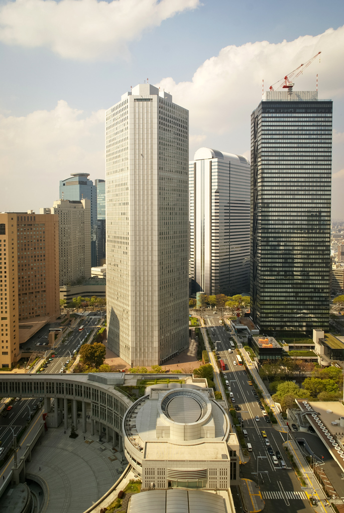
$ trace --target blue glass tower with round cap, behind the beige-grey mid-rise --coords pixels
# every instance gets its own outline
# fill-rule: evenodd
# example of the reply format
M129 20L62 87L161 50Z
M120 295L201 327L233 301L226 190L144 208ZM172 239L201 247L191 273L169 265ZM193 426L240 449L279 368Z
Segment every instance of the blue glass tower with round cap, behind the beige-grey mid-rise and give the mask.
M90 200L91 202L91 266L97 265L97 186L88 180L89 173L71 173L60 181L60 200Z

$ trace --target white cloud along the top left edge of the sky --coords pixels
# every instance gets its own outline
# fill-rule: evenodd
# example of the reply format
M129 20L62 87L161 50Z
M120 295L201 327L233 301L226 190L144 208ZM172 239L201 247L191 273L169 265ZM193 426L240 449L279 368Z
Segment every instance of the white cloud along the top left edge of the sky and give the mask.
M0 41L46 47L81 61L128 54L127 44L144 30L199 0L14 0L0 7Z

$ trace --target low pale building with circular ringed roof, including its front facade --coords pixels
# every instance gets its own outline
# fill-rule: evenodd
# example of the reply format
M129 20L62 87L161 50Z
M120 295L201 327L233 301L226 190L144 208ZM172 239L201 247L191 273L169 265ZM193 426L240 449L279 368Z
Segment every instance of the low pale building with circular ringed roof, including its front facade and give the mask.
M125 456L142 489L237 484L238 438L213 389L202 385L153 385L125 413Z

